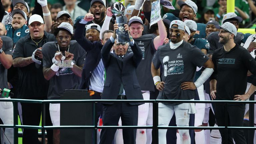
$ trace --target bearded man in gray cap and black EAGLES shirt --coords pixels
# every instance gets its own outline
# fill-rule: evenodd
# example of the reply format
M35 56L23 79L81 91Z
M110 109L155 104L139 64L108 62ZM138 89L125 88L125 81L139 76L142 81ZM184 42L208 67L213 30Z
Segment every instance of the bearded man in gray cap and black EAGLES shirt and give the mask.
M212 61L215 71L211 76L211 97L215 100L247 100L256 90L256 61L246 49L235 43L237 28L230 22L225 22L219 32L219 43L223 47L213 53ZM254 75L247 93L246 77L248 70ZM227 76L228 75L228 76ZM216 85L218 83L218 85ZM232 84L232 86L230 86ZM215 118L218 126L225 126L225 110L228 114L228 126L242 127L245 104L228 103L215 104ZM222 143L246 144L243 130L220 129Z

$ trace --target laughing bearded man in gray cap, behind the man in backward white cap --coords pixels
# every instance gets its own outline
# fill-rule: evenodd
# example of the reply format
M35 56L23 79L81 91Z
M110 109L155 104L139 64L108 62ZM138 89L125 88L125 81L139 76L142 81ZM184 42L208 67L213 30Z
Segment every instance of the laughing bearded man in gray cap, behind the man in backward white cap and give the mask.
M186 0L178 1L178 5L180 6L180 13L179 18L175 17L172 13L167 13L163 16L163 19L169 19L170 21L179 19L181 21L185 20L194 20L196 18L197 13L197 5L191 1ZM197 24L197 31L195 38L205 38L205 24L202 23L196 23Z

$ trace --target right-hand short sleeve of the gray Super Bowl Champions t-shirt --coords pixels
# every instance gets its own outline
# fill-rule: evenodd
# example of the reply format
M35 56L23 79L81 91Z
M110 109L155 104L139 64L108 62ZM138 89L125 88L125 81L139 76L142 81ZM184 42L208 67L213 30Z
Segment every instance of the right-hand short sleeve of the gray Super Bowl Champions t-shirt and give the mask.
M191 51L191 56L194 57L193 63L197 67L201 67L204 63L209 59L207 55L205 55L200 49L197 47L193 47Z

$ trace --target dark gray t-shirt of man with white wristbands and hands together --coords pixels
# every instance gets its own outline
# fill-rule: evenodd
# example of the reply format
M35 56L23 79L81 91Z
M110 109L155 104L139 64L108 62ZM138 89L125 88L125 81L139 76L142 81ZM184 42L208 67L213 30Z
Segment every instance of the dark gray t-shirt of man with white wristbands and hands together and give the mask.
M56 46L57 42L48 42L42 47L43 53L43 67L51 67L54 58L54 54L58 51ZM85 51L84 49L75 41L70 41L69 52L74 54L73 62L77 66L81 66L84 63ZM80 83L80 77L75 75L71 68L59 68L56 75L50 79L50 86L48 90L48 99L60 99L60 95L66 89L78 89Z

